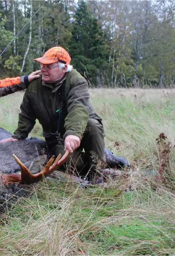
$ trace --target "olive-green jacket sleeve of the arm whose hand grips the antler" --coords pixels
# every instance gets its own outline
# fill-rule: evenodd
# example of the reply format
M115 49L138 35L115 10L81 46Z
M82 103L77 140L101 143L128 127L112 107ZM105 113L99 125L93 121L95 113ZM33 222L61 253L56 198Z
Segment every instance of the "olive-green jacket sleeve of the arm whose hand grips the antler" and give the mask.
M90 95L88 84L85 78L80 78L72 85L68 95L67 110L68 115L65 118L65 137L76 135L82 138L85 132L90 108Z

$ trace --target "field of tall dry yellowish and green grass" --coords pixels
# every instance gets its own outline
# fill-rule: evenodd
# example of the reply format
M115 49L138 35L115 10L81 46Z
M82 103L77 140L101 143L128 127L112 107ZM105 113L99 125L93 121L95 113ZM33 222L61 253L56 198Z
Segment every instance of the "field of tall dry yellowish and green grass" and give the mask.
M41 182L2 216L0 255L175 255L175 90L90 94L106 147L128 158L131 175L104 187ZM0 98L0 127L14 131L22 97ZM32 135L42 137L38 123ZM161 169L162 179L137 175L145 169Z

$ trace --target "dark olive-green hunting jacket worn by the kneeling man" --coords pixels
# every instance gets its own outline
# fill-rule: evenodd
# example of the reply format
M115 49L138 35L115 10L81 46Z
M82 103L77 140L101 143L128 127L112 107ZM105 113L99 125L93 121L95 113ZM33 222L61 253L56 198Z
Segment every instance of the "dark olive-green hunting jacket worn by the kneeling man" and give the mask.
M52 144L61 137L76 135L82 138L88 118L101 118L92 111L88 84L76 70L65 73L57 84L34 79L27 88L20 106L18 128L13 138L27 138L38 119L45 140ZM52 133L52 134L51 134Z

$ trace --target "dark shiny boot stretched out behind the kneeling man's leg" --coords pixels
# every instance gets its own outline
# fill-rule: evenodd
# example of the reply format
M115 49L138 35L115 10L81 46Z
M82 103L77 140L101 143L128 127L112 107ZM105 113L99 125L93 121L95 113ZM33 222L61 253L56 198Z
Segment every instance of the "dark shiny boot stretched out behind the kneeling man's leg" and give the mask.
M113 155L112 151L105 149L106 164L109 168L123 168L130 167L128 160L124 157L117 157Z

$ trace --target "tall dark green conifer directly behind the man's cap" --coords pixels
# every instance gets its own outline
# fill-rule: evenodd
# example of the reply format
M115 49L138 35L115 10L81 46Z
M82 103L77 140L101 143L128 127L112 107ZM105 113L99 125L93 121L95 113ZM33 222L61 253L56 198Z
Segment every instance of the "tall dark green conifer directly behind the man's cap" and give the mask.
M78 2L74 19L70 44L72 64L90 84L101 83L108 56L101 26L90 15L84 1Z

